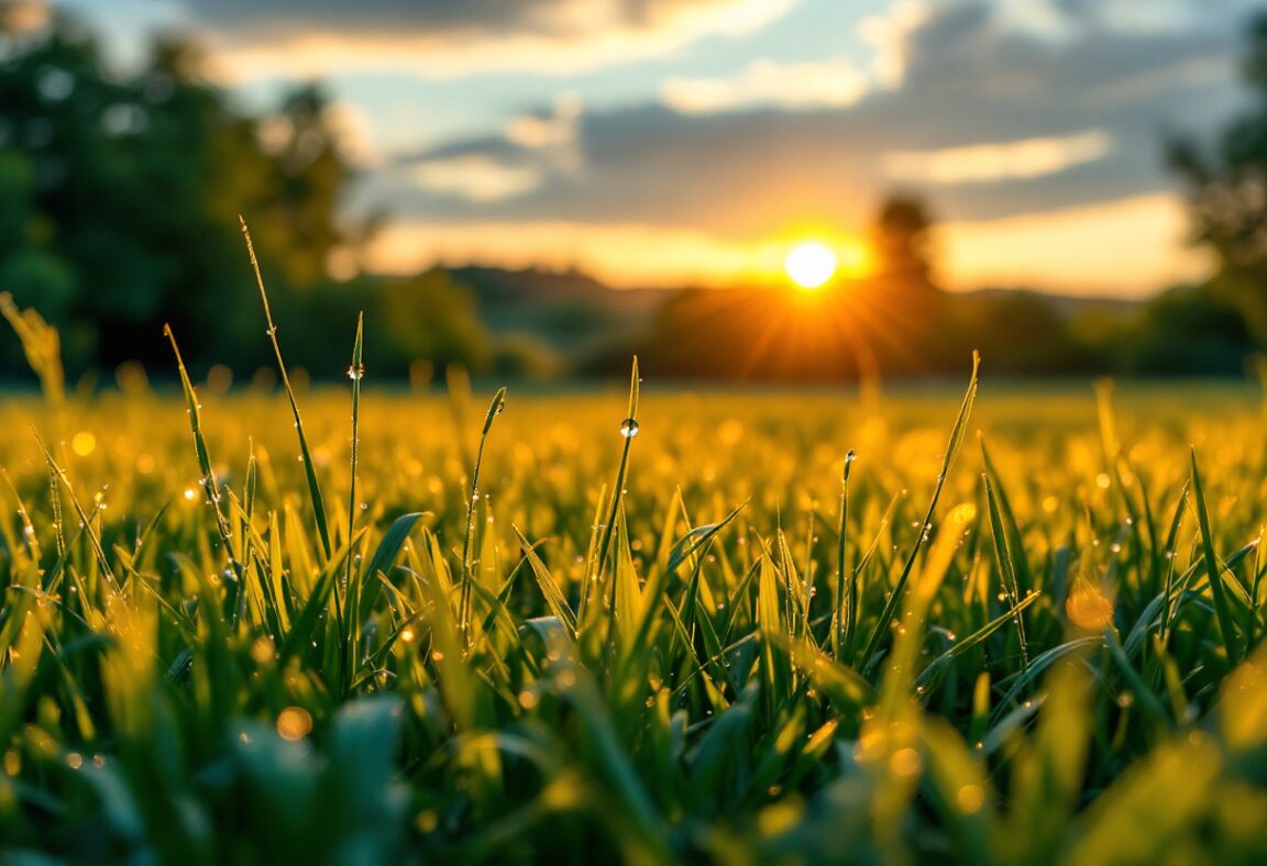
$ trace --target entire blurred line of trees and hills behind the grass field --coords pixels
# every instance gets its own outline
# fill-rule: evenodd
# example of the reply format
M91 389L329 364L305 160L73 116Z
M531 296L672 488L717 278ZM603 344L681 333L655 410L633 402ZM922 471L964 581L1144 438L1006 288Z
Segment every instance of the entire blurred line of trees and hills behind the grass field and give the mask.
M1267 23L1245 62L1257 108L1214 148L1159 142L1215 275L1126 303L939 290L934 216L914 191L877 208L870 276L813 294L611 290L536 268L375 276L360 251L389 215L347 216L356 173L319 85L251 114L200 77L191 43L156 42L122 73L81 23L60 15L30 32L4 9L0 290L61 330L75 376L133 361L170 371L163 323L195 372L218 363L241 381L265 366L266 344L243 338L264 323L238 214L279 319L303 323L281 336L285 351L314 377L341 375L329 347L350 343L357 310L366 362L400 376L422 358L500 376L607 373L639 352L663 376L839 380L952 372L971 348L996 373L1242 375L1267 347ZM24 375L13 342L0 363Z

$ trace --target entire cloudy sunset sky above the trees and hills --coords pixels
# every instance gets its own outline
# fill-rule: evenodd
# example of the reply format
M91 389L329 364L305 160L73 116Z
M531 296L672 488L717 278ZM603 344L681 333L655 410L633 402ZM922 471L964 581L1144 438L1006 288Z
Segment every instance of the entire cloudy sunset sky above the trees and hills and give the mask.
M950 289L1200 279L1167 135L1245 101L1248 0L65 0L127 63L196 34L264 109L318 78L390 222L365 266L579 267L725 286L887 194Z

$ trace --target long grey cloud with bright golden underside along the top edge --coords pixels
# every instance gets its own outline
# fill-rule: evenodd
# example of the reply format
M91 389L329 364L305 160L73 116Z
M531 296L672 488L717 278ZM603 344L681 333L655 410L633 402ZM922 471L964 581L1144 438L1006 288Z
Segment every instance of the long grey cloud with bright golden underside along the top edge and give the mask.
M224 81L332 70L575 73L753 33L797 0L180 0Z

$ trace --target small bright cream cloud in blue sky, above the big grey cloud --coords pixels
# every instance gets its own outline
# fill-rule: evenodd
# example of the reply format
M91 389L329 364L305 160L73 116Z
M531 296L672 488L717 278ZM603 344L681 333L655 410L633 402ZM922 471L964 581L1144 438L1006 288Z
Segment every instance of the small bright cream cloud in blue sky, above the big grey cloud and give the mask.
M813 108L853 105L869 89L868 77L848 57L803 63L759 60L729 78L669 78L664 103L683 114L753 106Z

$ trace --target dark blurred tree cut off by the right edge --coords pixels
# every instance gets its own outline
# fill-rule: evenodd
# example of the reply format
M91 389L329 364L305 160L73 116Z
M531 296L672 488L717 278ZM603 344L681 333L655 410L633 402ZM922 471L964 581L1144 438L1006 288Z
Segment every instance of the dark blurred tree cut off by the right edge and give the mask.
M1213 148L1191 139L1169 144L1171 167L1188 187L1194 239L1209 247L1218 272L1216 298L1245 318L1256 342L1267 344L1267 15L1249 27L1242 77L1252 92L1248 111L1224 129Z

